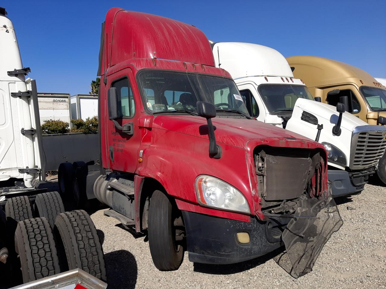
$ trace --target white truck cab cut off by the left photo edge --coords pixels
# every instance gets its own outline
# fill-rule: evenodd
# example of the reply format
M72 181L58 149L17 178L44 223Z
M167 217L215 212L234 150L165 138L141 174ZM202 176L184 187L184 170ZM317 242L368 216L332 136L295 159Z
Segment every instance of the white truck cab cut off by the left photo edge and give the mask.
M44 180L36 84L25 79L14 26L0 7L0 195ZM18 181L19 188L15 186ZM7 192L5 192L7 191ZM0 197L1 200L1 197Z

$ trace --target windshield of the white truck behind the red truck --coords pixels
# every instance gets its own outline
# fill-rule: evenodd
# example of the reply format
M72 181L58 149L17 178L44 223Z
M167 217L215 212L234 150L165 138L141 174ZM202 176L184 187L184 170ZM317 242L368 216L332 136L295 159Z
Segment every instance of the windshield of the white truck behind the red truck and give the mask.
M298 98L314 100L306 86L291 84L261 84L259 94L268 110L274 114L292 111Z

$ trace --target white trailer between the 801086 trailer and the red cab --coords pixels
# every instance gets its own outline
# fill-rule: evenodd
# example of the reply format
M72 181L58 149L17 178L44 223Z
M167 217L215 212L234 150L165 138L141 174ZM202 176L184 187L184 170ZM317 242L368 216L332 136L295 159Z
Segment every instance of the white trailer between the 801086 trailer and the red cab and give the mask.
M71 119L98 116L98 95L75 94L71 96Z

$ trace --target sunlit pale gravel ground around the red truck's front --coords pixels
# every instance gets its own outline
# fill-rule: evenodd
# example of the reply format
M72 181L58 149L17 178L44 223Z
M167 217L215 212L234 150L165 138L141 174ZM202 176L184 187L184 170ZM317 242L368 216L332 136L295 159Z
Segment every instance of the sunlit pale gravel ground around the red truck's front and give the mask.
M233 265L189 262L178 271L154 267L144 235L91 215L103 241L109 288L386 288L386 188L367 184L361 195L337 199L344 225L327 242L313 271L298 279L273 260L280 252ZM355 208L355 210L348 210Z

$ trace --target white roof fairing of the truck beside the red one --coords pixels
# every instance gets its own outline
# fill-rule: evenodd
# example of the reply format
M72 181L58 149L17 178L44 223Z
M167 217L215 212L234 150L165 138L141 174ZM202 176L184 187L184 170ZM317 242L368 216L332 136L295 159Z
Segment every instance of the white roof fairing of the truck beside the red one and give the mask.
M212 44L212 49L216 67L231 71L234 79L249 76L293 77L284 56L270 47L244 42L217 42Z

